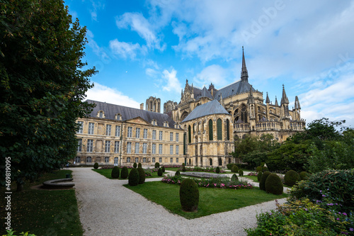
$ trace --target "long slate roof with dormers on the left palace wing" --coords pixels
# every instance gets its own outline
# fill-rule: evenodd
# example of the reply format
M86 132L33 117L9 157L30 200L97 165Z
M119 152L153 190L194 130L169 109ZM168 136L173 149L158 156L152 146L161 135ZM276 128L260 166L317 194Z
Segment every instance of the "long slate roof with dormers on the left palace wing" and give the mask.
M152 111L140 110L137 108L131 108L127 106L120 106L110 103L105 103L101 101L86 100L87 103L95 103L96 107L89 114L89 117L97 117L98 111L104 111L105 118L109 120L114 120L116 114L122 116L122 120L130 120L132 118L143 118L148 123L152 123L152 120L156 120L157 126L164 126L164 122L169 122L169 127L174 128L175 122L166 114L156 113Z

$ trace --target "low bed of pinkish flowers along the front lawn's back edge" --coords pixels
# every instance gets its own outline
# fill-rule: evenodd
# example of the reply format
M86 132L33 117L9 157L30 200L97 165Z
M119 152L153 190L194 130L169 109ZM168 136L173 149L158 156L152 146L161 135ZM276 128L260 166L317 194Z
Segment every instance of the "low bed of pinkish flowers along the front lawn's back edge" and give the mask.
M181 176L166 176L161 181L166 184L181 185L183 181ZM190 178L193 179L193 178ZM199 187L219 188L219 189L253 189L251 184L246 181L230 181L229 178L213 178L213 179L193 179Z

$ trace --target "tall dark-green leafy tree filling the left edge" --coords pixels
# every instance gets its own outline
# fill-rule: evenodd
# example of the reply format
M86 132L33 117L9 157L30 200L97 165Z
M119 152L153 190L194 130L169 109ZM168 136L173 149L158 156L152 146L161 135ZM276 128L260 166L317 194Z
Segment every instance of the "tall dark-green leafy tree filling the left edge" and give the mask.
M0 9L1 166L11 157L21 184L76 154L75 121L91 109L83 100L96 70L84 69L86 28L64 1L7 0Z

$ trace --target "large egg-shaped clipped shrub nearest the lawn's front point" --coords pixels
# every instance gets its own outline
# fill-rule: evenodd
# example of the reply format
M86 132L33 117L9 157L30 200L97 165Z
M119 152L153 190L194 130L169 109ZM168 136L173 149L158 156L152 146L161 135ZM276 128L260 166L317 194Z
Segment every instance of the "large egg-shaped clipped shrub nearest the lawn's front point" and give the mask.
M179 189L179 197L182 209L185 211L195 211L198 209L199 190L193 179L185 179Z

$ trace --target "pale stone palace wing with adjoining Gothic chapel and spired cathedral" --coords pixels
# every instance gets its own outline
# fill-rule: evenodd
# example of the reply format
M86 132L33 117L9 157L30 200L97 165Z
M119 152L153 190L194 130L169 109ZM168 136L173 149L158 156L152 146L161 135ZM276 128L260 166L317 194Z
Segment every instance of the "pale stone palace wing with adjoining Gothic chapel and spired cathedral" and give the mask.
M268 93L249 84L244 52L241 79L222 89L213 84L200 89L185 83L181 101L164 103L149 97L140 109L88 100L96 107L76 134L79 147L75 164L115 164L130 166L140 162L144 166L182 164L198 167L225 167L238 162L234 140L246 135L272 134L282 142L302 132L305 120L300 116L300 103L290 110L289 99L282 86L280 104L275 97L271 103Z

